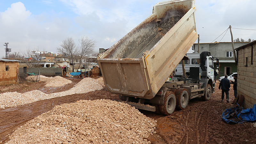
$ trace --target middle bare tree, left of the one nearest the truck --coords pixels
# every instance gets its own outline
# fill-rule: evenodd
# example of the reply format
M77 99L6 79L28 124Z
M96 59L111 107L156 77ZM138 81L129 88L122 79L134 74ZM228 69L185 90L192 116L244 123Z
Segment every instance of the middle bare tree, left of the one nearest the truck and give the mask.
M74 65L75 59L76 59L76 44L72 37L68 37L65 40L62 41L60 44L60 47L57 47L56 50L65 55L66 58L70 61L71 64ZM74 67L73 67L74 71Z

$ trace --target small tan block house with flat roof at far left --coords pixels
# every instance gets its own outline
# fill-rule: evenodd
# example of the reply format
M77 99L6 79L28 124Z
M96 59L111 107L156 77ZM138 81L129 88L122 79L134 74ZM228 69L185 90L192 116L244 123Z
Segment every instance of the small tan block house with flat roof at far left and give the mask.
M18 84L20 60L0 59L0 85Z

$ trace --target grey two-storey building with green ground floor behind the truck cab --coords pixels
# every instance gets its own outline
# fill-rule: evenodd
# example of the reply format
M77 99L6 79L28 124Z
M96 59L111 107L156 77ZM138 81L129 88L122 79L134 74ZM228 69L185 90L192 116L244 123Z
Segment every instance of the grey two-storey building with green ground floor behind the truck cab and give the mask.
M240 47L244 44L248 44L248 42L234 42L234 48ZM197 52L198 44L193 44L192 50ZM231 42L200 43L199 52L203 51L209 51L213 57L219 58L219 75L216 79L219 79L220 76L224 76L225 74L228 75L230 73L237 72ZM216 68L216 64L217 63L214 64L214 68Z

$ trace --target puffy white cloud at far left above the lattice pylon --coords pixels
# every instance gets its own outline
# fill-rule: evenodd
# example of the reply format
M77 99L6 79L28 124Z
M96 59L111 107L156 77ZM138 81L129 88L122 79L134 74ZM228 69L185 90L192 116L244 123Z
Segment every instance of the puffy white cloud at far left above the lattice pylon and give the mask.
M0 33L5 34L0 35L1 42L8 42L12 52L24 52L27 47L54 52L55 47L66 36L72 36L74 30L70 19L56 13L32 15L21 2L0 12L0 27Z

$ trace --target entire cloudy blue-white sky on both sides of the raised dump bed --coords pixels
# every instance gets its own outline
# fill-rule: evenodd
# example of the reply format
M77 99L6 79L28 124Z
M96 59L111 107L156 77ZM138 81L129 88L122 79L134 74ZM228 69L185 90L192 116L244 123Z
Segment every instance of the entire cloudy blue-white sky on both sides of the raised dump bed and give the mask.
M159 0L0 0L0 58L4 43L11 53L27 48L54 52L67 37L97 41L95 51L109 48L152 14ZM256 40L255 0L196 0L200 43ZM242 28L242 29L235 29ZM220 36L218 39L216 39ZM224 36L224 37L223 37ZM216 39L216 40L215 40ZM197 43L197 41L195 42ZM1 46L2 45L2 46Z

